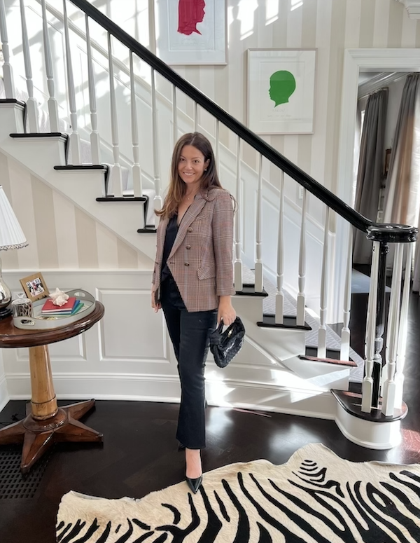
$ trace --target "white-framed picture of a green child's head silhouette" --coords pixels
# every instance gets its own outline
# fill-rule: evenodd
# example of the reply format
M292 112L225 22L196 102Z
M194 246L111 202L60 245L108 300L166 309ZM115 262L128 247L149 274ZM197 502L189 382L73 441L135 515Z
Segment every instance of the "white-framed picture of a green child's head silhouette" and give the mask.
M248 128L313 134L316 49L248 49Z

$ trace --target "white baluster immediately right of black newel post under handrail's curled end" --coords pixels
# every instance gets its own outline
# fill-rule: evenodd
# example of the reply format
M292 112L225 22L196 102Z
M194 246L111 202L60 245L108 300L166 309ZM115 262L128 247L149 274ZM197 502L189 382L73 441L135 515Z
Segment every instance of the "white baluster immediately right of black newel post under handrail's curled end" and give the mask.
M400 320L401 276L402 276L402 243L395 244L395 255L392 271L391 299L389 301L388 329L386 331L386 380L382 397L382 413L388 417L393 415L395 405L395 363L397 360L398 332Z

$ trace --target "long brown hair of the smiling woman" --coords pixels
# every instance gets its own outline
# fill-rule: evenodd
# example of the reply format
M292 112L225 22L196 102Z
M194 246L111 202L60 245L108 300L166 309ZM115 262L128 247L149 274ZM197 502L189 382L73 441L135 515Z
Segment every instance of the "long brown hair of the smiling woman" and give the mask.
M163 207L155 213L158 216L165 216L170 218L178 211L178 206L186 193L187 187L178 173L179 160L181 158L182 149L186 145L193 145L204 155L204 162L209 160L209 165L205 172L203 172L200 180L200 192L206 193L211 188L216 186L221 188L221 182L218 179L216 170L216 160L214 159L214 152L211 148L211 143L207 137L200 134L200 132L190 132L181 136L176 142L174 152L172 153L171 163L171 178L169 181L169 190L163 202Z

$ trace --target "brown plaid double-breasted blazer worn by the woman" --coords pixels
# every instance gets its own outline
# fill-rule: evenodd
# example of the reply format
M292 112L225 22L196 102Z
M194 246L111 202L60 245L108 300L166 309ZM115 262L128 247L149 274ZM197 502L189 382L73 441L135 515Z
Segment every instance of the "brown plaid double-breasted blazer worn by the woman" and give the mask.
M153 269L155 301L160 300L160 271L169 219L160 219ZM198 193L188 207L167 259L189 312L218 307L218 296L235 294L233 287L233 206L230 193L212 188Z

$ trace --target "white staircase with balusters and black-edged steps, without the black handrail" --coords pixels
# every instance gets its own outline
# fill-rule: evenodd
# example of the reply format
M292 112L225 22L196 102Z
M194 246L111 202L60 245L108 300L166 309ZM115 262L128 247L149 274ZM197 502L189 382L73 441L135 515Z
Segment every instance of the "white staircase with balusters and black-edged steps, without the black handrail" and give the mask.
M42 71L45 81L48 81L45 107L34 98L32 50L25 18L28 2L38 13L40 27L36 32L43 36ZM70 3L78 8L78 17L73 20L69 20L66 13L66 6ZM165 185L162 179L166 177L164 172L167 171L174 141L183 132L199 130L214 144L223 184L235 195L239 207L235 224L237 294L233 303L246 327L246 343L237 359L224 370L217 369L209 360L209 404L330 418L336 420L346 437L360 445L388 448L397 444L400 419L407 412L402 401L402 385L411 269L411 251L407 251L405 276L402 278L402 244L412 246L416 229L373 224L360 216L202 95L86 0L64 0L62 11L52 8L44 0L21 0L19 29L10 28L12 18L9 15L4 0L0 0L0 37L4 56L0 151L135 249L143 261L150 261L148 269L151 270L155 256L153 208L158 209L162 205L162 185ZM75 25L74 21L80 19L80 15L85 18L85 29ZM66 63L65 108L55 97L55 64L48 33L52 18L59 20L64 34L61 62ZM92 20L106 32L107 50L100 50L90 38ZM22 36L20 43L25 71L18 77L18 67L15 69L10 62L8 36L11 32L20 32ZM116 41L129 51L129 68L113 55ZM98 105L94 76L98 51L108 62L108 112L102 104ZM83 85L80 81L75 83L72 59L76 54L86 63L87 80L81 81ZM139 78L136 71L139 62L150 67L151 75L147 81ZM171 85L172 100L167 93L160 92L158 75ZM25 81L26 95L25 91L17 90L16 81ZM125 110L121 113L121 104L116 97L121 85L127 91L126 95L130 95L129 103L124 104L130 116ZM81 87L84 88L82 93L88 95L90 109L90 124L83 130L78 126L86 112L78 109L76 99L76 89ZM177 106L177 96L181 92L195 104L193 118ZM205 127L200 124L200 109L214 117L213 132L209 123ZM63 118L64 110L69 111L69 118ZM103 116L107 116L109 127L100 133L98 125ZM44 117L48 119L49 131L40 130L39 121ZM222 125L230 130L230 137L223 141ZM70 127L67 132L66 126ZM129 131L131 139L127 139ZM143 160L141 140L145 138L144 132L150 135L144 146L150 147L151 154L146 153L148 156ZM244 142L256 153L256 170L249 167L244 158ZM264 179L263 160L278 169L279 188ZM303 187L300 209L285 194L286 176ZM311 198L323 202L323 225L307 212L309 193ZM349 231L346 270L341 276L337 276L339 263L335 261L334 247L330 243L332 214L344 219ZM372 240L365 360L350 349L353 228L364 231ZM314 249L309 247L309 240L318 250L316 258L313 258ZM389 242L395 243L397 248L391 289L392 318L386 338L386 358L382 362L384 304L381 300L385 296L384 254ZM263 247L264 254L268 255L265 259ZM308 275L307 263L311 266ZM333 280L339 282L339 288L332 287ZM341 337L327 325L328 307L332 305L331 297L336 291L342 292L342 298L334 301L342 308L340 320L344 324ZM144 303L146 310L150 310L148 303ZM315 342L312 341L311 348L308 348L305 334L312 329L316 329L311 336L315 337ZM331 338L335 349L330 343ZM7 378L6 374L6 381ZM362 382L360 393L349 392L351 380ZM122 392L117 389L118 384L115 394L107 397L121 397ZM73 397L79 394L80 391L73 390ZM167 399L170 401L171 398Z

